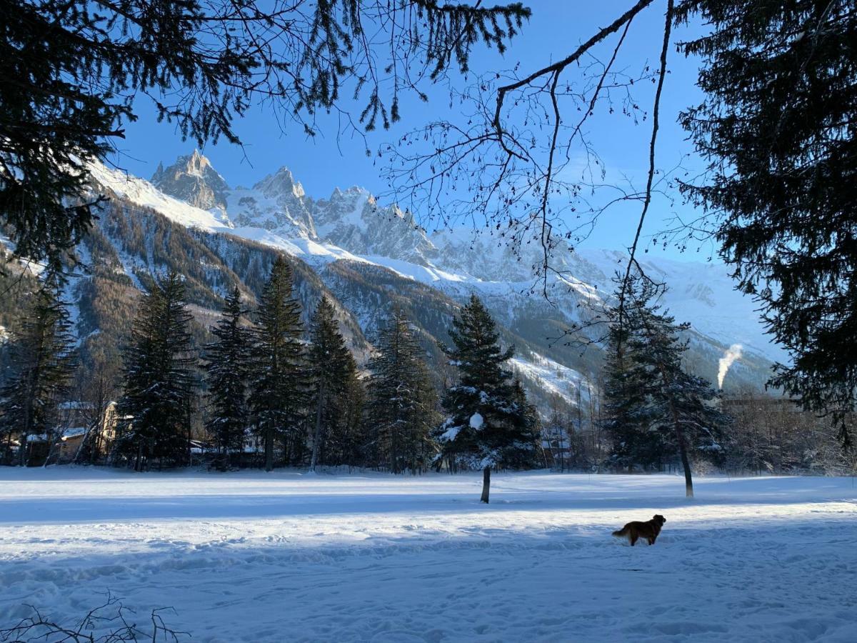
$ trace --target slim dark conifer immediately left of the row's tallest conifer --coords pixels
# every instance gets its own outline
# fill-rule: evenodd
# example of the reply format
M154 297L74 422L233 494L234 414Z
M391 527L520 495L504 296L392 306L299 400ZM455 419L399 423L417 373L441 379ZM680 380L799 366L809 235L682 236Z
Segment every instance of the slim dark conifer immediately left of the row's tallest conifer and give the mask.
M226 297L223 316L211 328L217 340L206 347L208 399L213 408L206 429L217 443L224 467L228 454L243 447L244 433L249 426L252 338L249 328L242 323L244 313L241 293L236 286Z

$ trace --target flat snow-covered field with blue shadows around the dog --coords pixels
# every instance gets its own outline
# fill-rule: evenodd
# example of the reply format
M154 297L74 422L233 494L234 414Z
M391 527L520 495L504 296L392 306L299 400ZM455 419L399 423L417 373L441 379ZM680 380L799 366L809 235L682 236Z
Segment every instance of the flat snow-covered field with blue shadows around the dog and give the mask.
M110 590L194 641L857 640L851 478L480 478L6 468L0 628Z

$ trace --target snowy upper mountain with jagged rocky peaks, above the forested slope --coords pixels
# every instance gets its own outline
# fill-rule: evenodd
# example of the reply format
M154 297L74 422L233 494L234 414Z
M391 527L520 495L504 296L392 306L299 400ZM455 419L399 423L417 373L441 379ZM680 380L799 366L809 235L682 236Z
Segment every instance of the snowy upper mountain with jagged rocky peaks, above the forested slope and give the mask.
M542 354L524 358L526 375L541 382L549 394L560 394L555 382L540 371L539 363L553 360L564 368L579 368L569 355L560 358L546 333L585 321L601 310L612 290L610 279L622 266L624 255L612 251L568 252L558 249L560 273L548 280L550 303L534 286L541 285L532 267L540 250L524 245L520 255L504 239L474 235L458 229L428 235L410 213L381 207L366 190L336 189L327 199L305 194L291 171L282 167L253 188L230 189L225 179L199 153L159 167L153 180L159 188L138 178L126 177L103 166L94 168L99 183L130 201L153 207L182 225L211 232L227 232L264 243L307 261L321 270L333 261L354 261L386 268L462 302L478 293L506 328L528 342L542 346ZM209 185L209 183L211 183ZM164 194L214 203L209 209ZM216 201L216 203L215 203ZM716 362L728 346L740 344L753 355L737 364L742 382L764 382L766 360L782 360L782 350L764 335L754 304L734 291L726 269L715 264L648 260L646 270L666 281L671 290L666 305L679 321L690 321L696 331L697 350L706 369L716 372ZM367 317L367 319L374 317ZM363 328L372 333L372 328ZM532 348L532 346L530 346ZM564 363L564 364L563 364ZM742 370L743 369L743 370ZM706 371L703 375L713 377ZM572 381L582 376L574 372ZM727 380L729 382L729 380ZM563 385L561 396L566 397ZM576 395L572 393L572 395Z

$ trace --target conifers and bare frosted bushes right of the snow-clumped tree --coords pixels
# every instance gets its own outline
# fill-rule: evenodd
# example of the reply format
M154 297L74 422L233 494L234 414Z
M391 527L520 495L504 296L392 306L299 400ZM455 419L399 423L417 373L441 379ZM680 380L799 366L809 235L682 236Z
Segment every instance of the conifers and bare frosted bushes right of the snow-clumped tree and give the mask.
M614 299L618 297L617 278ZM688 366L687 323L658 300L666 285L632 273L626 309L605 310L605 358L578 387L575 404L554 404L542 434L560 471L684 472L735 475L842 475L857 468L842 449L839 427L801 409L781 391L741 388L729 394ZM684 338L684 339L682 339ZM853 427L854 418L845 422Z

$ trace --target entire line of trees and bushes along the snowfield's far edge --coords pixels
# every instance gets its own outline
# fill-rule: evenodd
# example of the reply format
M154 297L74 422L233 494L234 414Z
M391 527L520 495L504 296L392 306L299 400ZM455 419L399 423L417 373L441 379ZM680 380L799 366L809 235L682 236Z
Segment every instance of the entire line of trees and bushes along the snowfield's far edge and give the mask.
M594 386L585 395L578 387L576 404L540 414L508 370L514 348L500 346L494 319L476 296L452 319L450 345L441 346L458 376L439 390L428 352L401 309L381 324L363 369L327 297L304 328L282 255L255 309L235 287L209 340L199 344L190 332L183 279L166 273L147 280L119 386L105 373L78 371L92 380L93 426L103 421L111 392L118 393L115 437L107 441L93 431L78 461L136 471L187 466L200 456L222 470L481 470L487 502L497 469L674 467L684 472L691 496L692 469L700 466L796 471L841 454L830 431L809 431L806 418L793 430L794 414L779 412L776 422L753 414L765 403L732 400L724 411L722 392L683 365L688 340L681 338L689 325L661 309L663 287L633 275L623 313L605 311L606 357ZM60 409L75 393L77 365L62 291L47 274L6 346L0 436L8 464L28 463L31 437L62 438ZM775 417L773 406L765 408Z

